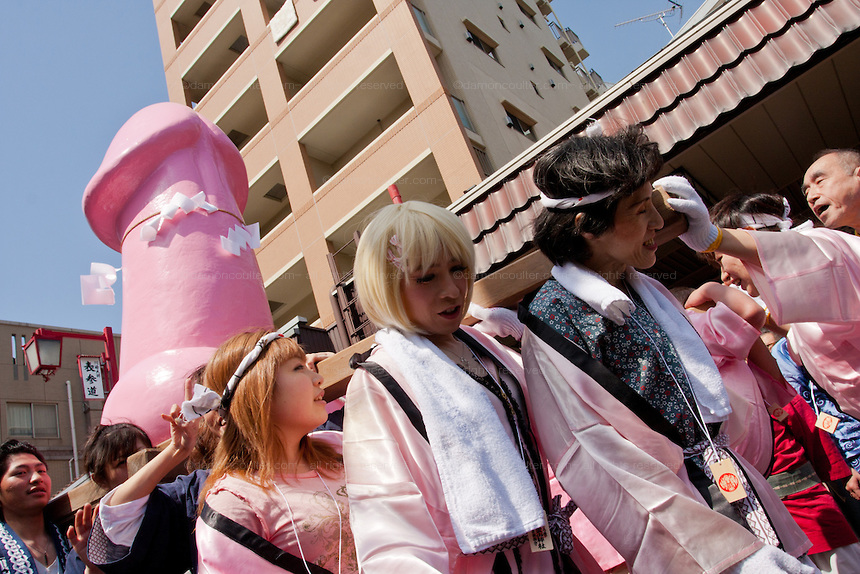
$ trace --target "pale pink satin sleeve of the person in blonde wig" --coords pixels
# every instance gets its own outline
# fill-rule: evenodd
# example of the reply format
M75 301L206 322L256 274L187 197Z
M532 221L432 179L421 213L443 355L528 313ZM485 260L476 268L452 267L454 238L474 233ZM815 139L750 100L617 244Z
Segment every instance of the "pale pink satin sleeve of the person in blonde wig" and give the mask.
M378 354L371 360L378 361ZM362 572L451 571L436 526L446 506L441 487L434 489L438 479L430 475L436 464L429 445L388 391L362 369L349 383L343 442Z

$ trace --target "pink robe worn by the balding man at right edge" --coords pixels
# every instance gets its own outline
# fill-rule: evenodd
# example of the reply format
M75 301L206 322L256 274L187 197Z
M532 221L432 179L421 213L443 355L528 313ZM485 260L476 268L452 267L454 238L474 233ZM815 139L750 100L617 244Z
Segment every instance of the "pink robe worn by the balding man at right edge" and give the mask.
M860 417L860 237L832 229L748 233L762 265L747 270L774 320L791 324L793 358Z

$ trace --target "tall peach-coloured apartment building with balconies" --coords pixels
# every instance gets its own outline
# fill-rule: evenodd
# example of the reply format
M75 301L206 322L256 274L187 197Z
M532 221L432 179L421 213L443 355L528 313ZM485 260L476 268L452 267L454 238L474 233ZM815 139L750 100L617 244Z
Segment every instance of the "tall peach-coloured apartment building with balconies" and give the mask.
M338 349L360 338L360 318L336 310L352 297L355 232L389 186L448 206L605 90L547 0L154 8L171 101L245 160L275 325L337 326Z

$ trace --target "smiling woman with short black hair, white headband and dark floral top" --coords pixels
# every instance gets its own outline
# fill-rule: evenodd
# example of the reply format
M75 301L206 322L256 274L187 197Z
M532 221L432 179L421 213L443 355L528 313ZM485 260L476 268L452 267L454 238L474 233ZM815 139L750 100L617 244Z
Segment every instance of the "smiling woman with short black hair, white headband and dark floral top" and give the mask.
M542 447L634 572L813 572L777 548L809 542L726 447L731 407L705 345L637 271L656 262L661 166L638 126L573 137L535 165L535 243L554 267L522 317Z

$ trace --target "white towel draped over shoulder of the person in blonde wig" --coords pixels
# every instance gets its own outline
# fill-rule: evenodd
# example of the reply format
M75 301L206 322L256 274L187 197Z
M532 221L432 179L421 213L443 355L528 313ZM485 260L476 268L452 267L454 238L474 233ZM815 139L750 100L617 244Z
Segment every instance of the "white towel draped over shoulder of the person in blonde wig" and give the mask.
M460 549L485 550L546 525L518 449L483 387L424 337L376 333L418 399Z

